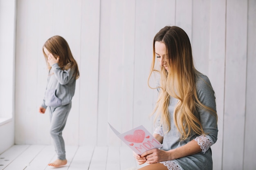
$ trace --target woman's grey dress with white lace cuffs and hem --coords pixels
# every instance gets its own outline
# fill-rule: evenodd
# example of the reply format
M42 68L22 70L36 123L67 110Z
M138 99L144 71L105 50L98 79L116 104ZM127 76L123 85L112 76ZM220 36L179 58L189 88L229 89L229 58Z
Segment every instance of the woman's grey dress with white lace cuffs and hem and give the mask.
M199 101L205 106L216 110L215 95L208 77L199 73L195 82ZM218 127L216 116L209 111L198 108L198 119L202 124L205 134L196 135L193 133L189 138L181 141L180 133L178 132L173 121L173 110L177 102L178 99L173 97L170 98L168 109L171 119L171 130L169 132L164 133L166 130L164 130L159 124L159 119L157 121L158 126L154 133L163 137L163 147L160 149L175 149L187 144L191 140L195 140L198 142L202 152L195 155L182 157L180 159L163 161L160 163L167 166L168 170L212 170L213 167L210 147L217 141Z

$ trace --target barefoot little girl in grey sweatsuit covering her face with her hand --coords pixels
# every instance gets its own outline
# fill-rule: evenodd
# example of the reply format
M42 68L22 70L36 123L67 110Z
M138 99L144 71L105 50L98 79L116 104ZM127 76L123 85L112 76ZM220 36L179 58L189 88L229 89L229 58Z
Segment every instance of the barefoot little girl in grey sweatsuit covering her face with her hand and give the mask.
M62 131L70 113L79 70L69 45L61 36L49 38L43 45L43 54L49 68L49 75L39 113L45 113L48 106L51 121L50 134L58 155L58 159L48 165L59 167L67 164Z

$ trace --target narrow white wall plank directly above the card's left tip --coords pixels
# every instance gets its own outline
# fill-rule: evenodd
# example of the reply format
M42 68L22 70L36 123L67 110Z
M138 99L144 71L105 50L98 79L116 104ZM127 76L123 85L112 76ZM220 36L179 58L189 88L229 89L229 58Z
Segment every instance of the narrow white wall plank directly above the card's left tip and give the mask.
M99 101L97 117L97 145L106 145L108 138L106 120L109 107L109 64L110 64L110 9L111 0L101 0L100 48L99 48Z

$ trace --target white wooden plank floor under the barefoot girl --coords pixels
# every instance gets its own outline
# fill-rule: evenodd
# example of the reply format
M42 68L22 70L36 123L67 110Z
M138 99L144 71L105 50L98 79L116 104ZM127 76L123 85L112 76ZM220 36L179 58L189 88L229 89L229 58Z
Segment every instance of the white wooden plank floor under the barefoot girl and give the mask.
M135 170L139 166L126 146L66 146L67 165L58 170ZM56 159L52 145L14 145L0 155L0 170L49 170Z

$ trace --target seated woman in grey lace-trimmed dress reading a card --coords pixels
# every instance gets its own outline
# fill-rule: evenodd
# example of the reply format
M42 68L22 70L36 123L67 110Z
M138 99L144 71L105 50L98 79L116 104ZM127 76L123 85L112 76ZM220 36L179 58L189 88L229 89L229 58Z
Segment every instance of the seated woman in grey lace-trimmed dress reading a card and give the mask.
M139 170L212 170L215 94L208 77L195 69L189 37L181 28L166 26L155 35L149 77L153 72L160 74L154 137L163 147L134 153L139 164L150 164Z

